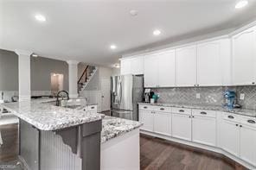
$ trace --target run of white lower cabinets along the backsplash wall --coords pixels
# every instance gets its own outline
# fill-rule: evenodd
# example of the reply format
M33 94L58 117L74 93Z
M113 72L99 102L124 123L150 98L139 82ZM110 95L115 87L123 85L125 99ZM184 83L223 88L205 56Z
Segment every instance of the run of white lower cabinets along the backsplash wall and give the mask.
M256 167L256 118L213 110L145 105L139 108L139 121L144 123L141 129L218 147Z

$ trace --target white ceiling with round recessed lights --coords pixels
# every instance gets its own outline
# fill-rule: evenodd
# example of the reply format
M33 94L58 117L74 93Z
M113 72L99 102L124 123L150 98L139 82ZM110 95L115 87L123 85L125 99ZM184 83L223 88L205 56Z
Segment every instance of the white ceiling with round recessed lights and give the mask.
M255 0L0 0L0 48L110 66L121 54L234 28L256 17ZM131 9L138 16L131 16ZM46 22L35 21L35 14ZM160 36L152 35L155 28ZM109 46L116 44L117 49Z

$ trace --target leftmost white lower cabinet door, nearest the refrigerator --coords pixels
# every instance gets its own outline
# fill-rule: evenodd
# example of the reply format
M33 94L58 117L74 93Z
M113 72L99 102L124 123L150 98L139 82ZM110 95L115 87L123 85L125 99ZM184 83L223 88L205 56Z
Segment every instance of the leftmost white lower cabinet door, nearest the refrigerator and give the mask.
M154 130L154 114L151 110L139 110L139 122L144 123L141 129L152 132Z

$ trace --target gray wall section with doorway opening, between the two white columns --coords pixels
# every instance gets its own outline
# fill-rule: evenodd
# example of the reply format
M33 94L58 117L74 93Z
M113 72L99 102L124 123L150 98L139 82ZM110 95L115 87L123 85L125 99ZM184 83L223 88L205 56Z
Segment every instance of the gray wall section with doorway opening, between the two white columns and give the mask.
M51 73L64 75L63 89L68 91L68 65L66 61L31 58L31 91L50 91Z

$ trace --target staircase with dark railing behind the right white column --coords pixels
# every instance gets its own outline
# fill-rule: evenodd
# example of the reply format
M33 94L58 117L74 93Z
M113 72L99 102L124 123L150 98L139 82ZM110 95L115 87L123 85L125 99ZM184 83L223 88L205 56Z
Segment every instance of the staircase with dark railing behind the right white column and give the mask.
M91 79L93 79L93 76L95 72L97 72L97 70L98 70L97 66L86 66L85 70L80 76L80 79L77 82L79 94L80 94L80 91L83 91L86 88L86 86L91 81Z

